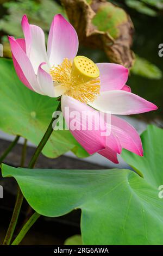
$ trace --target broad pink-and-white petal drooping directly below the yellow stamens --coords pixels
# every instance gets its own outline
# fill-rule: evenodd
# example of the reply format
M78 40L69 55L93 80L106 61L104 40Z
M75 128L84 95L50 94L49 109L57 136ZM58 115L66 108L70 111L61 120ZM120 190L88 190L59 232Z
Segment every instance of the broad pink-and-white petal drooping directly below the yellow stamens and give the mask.
M74 114L74 117L70 117L65 107L69 107L69 113ZM70 126L72 135L89 154L96 153L97 151L105 148L105 137L101 136L101 132L104 132L104 130L101 130L99 126L96 126L95 121L100 118L98 111L95 111L86 104L65 95L62 95L61 97L61 109L67 126ZM85 115L85 117L82 119L82 114L84 113L87 116ZM92 115L95 118L92 118L92 130L89 130L88 118L91 119ZM80 130L72 129L72 121L74 118L75 124ZM82 120L84 121L82 122Z

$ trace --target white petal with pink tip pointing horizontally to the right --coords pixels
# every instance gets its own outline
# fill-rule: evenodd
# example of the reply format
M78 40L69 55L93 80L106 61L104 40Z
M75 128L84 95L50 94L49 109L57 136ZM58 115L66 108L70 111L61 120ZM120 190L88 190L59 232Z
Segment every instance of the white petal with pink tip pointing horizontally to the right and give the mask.
M105 113L120 115L139 114L157 109L153 103L124 90L102 92L89 105Z

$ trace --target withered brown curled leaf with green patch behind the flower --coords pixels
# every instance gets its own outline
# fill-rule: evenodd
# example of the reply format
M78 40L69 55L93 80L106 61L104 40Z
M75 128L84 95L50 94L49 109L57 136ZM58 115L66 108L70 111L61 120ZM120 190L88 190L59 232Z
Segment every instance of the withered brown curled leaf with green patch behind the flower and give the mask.
M81 44L102 48L110 62L131 68L134 62L130 49L134 27L123 9L106 0L61 2Z

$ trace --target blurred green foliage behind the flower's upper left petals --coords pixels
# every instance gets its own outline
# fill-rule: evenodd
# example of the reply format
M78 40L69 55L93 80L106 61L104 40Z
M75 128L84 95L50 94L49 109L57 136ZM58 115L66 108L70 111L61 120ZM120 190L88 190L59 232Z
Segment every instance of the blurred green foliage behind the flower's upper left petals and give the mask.
M10 1L3 4L7 8L5 14L0 20L0 30L7 32L9 35L21 38L23 36L21 28L21 19L24 14L28 16L29 22L40 26L47 34L55 14L64 14L62 7L52 0L18 0ZM3 40L7 40L4 36Z

